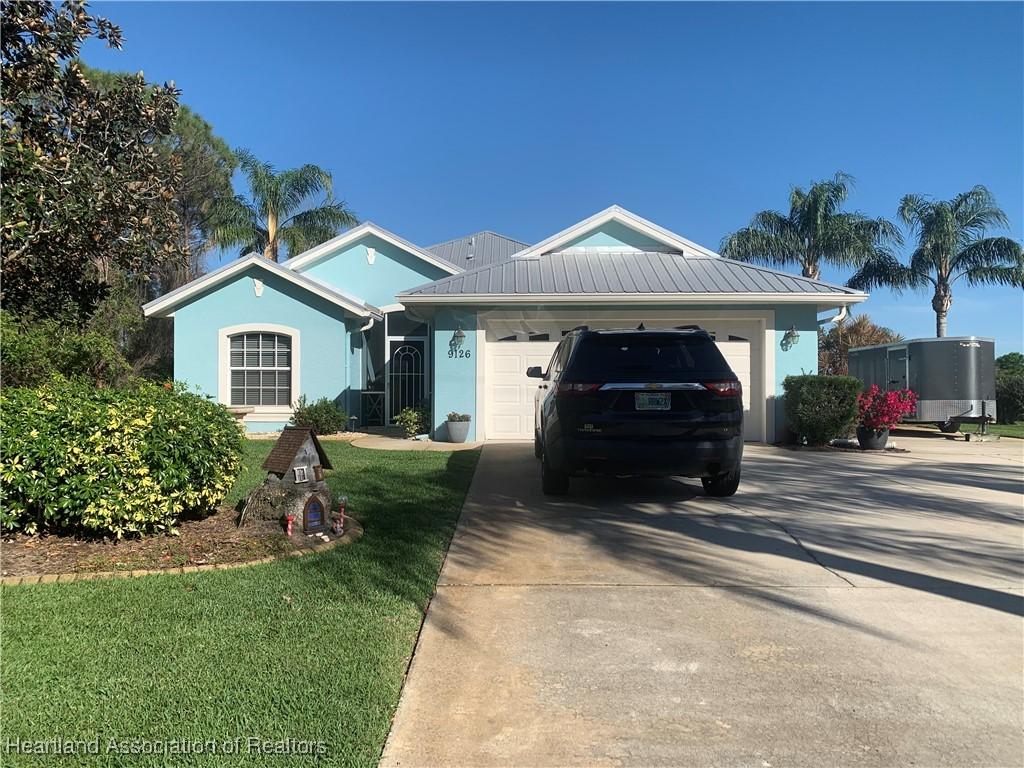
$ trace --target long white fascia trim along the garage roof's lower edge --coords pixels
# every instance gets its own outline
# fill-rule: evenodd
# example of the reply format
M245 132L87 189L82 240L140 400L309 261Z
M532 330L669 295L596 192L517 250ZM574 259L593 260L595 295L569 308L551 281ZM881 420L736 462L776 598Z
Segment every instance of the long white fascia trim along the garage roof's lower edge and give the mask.
M857 304L867 294L784 293L591 293L591 294L399 294L402 304Z

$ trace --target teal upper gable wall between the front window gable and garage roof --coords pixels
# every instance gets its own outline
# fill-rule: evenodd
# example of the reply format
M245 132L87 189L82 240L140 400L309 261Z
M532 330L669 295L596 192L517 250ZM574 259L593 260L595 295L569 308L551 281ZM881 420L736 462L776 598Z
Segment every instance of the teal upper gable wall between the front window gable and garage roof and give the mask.
M367 261L368 248L377 249L373 264ZM298 271L378 307L395 303L395 294L401 291L449 274L373 234L309 266L300 267Z

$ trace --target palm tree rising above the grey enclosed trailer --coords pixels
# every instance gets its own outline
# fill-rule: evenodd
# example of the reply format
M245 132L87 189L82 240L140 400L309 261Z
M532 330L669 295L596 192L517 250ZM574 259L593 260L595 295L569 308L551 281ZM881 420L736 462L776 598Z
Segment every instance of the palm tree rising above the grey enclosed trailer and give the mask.
M899 217L918 239L910 263L901 264L891 254L879 254L850 279L849 285L859 289L886 286L897 293L907 288L932 288L936 336L946 335L952 286L957 281L970 286L1024 287L1020 243L985 237L993 226L1006 227L1007 215L984 186L979 184L952 200L907 195L900 201Z

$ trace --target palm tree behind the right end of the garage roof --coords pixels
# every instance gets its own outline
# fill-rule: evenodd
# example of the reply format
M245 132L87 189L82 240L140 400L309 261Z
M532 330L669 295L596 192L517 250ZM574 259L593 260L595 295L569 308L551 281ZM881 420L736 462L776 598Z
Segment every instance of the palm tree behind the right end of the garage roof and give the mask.
M805 278L819 280L821 264L860 266L880 249L899 243L899 230L885 219L841 211L853 176L797 186L790 193L790 213L761 211L746 226L722 241L722 255L769 266L799 264Z

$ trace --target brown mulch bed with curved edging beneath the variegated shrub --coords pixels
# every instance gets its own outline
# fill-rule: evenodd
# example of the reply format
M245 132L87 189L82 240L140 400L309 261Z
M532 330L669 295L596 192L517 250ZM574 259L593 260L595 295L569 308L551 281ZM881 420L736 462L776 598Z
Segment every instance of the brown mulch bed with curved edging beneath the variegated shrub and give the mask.
M4 577L35 573L160 570L275 557L311 549L325 539L297 530L291 539L278 523L254 521L240 528L238 512L223 507L203 519L184 520L177 536L114 541L72 536L5 537L0 545ZM336 537L326 531L328 541Z

